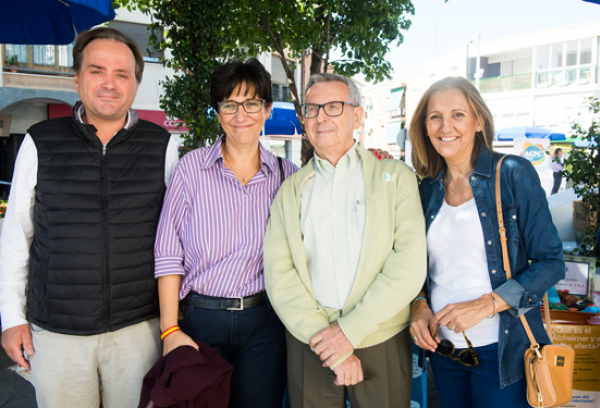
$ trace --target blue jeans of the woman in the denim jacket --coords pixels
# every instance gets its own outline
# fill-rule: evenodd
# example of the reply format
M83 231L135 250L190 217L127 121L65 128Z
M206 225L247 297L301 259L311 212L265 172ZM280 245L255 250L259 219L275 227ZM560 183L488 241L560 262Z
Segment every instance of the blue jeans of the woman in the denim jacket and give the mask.
M457 349L455 355L461 350ZM500 389L498 343L476 347L479 365L467 367L449 357L429 357L444 408L529 408L522 379Z

